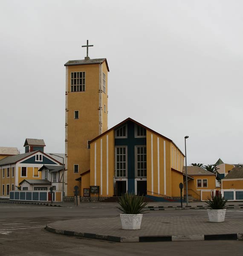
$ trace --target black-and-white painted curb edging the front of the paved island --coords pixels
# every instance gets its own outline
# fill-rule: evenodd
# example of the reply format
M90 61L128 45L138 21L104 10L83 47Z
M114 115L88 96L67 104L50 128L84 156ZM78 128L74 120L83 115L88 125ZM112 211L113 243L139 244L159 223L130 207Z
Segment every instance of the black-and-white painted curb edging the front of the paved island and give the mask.
M172 236L108 236L102 234L82 233L70 230L55 229L46 225L45 229L49 232L66 235L78 236L89 239L107 240L113 242L162 242L162 241L204 241L204 240L243 240L243 233L234 234L215 234L215 235L172 235Z

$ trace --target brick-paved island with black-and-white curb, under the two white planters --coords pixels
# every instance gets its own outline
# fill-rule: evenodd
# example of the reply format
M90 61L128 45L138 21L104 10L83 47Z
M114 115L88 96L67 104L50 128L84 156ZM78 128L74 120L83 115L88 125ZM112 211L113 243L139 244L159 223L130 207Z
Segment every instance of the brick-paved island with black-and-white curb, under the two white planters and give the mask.
M140 230L122 230L119 217L57 221L46 230L69 236L116 242L242 240L242 218L212 223L207 217L143 216Z

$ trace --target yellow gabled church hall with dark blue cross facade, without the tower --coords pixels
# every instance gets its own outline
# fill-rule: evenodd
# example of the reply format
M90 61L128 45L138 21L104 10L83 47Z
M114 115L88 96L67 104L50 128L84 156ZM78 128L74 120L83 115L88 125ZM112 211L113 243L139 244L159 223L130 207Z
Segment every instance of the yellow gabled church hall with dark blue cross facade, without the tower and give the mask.
M183 163L172 140L127 118L90 141L90 172L81 175L81 196L99 186L100 197L128 191L155 200L178 198Z

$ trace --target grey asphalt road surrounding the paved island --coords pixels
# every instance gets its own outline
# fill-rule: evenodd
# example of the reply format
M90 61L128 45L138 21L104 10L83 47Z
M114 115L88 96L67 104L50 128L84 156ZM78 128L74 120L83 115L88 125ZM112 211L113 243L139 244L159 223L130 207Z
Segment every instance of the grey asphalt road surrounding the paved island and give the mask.
M117 204L84 203L80 207L46 207L32 204L0 204L0 255L4 256L109 256L109 255L222 255L242 256L243 241L187 241L154 243L115 243L80 239L49 233L46 224L58 220L104 218L118 215ZM150 211L147 215L197 216L205 210ZM146 215L145 215L146 216ZM242 218L240 209L228 210L226 218Z

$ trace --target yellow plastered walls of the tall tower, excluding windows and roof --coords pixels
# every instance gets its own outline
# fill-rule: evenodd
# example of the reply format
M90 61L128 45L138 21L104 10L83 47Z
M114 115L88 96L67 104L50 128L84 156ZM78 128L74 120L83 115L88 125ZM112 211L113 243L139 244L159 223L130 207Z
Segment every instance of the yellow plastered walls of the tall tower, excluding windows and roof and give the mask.
M73 195L73 187L79 186L76 178L90 169L90 149L87 149L87 140L92 140L100 134L99 130L99 102L107 105L107 94L99 93L99 84L102 88L102 76L100 64L68 66L67 78L67 195ZM102 70L107 68L102 64ZM85 72L85 92L71 92L70 76L72 72ZM101 80L101 81L100 81ZM107 81L106 81L107 88ZM107 91L107 90L106 90ZM100 99L100 96L102 99ZM91 104L92 102L92 104ZM102 106L101 105L101 106ZM74 111L79 111L79 118L74 119ZM102 132L107 130L107 113L102 116ZM74 164L78 164L78 173L74 173Z

